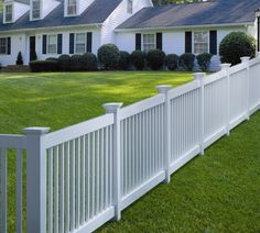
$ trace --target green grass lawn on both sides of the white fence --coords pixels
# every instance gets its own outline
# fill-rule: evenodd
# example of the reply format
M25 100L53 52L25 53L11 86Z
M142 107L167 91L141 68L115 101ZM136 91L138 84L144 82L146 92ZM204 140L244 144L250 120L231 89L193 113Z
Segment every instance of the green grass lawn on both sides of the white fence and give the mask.
M0 133L62 129L102 114L105 102L133 103L178 86L186 73L0 74ZM122 212L100 232L260 232L260 113ZM14 174L14 157L9 170ZM13 207L14 176L9 177ZM14 209L9 212L14 232Z

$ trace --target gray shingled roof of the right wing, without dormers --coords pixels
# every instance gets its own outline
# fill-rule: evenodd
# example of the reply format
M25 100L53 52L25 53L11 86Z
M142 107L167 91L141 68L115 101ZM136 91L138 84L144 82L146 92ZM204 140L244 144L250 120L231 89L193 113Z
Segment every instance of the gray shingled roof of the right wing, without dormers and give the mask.
M117 29L182 27L254 21L260 0L216 0L144 8Z

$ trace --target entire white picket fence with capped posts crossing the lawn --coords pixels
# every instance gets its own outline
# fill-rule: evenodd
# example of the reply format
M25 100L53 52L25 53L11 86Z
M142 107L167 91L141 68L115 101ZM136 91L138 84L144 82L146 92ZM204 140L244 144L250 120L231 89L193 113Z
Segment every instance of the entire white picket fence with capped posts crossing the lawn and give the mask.
M17 151L17 232L91 232L189 162L260 107L260 58L57 132L0 135L1 232L7 232L9 149ZM23 159L26 168L22 167ZM26 171L26 180L22 174ZM25 182L25 184L23 184Z

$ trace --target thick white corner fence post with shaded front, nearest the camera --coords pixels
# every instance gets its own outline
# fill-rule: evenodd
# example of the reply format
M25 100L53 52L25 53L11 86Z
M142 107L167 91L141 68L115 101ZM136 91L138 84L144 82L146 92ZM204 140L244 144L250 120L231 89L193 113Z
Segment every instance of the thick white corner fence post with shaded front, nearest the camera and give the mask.
M26 127L26 232L46 232L46 149L50 127Z

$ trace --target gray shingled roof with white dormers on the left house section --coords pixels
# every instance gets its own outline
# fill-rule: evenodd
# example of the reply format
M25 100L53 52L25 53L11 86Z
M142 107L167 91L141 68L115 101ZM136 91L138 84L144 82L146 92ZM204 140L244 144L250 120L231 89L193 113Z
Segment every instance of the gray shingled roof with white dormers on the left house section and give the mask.
M95 0L80 15L73 18L64 18L63 1L47 16L39 21L30 21L28 12L15 23L3 24L0 15L0 31L99 24L106 21L120 2L121 0Z

